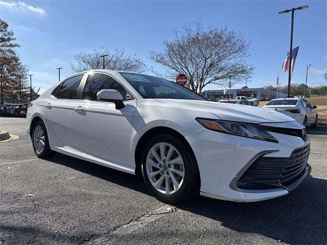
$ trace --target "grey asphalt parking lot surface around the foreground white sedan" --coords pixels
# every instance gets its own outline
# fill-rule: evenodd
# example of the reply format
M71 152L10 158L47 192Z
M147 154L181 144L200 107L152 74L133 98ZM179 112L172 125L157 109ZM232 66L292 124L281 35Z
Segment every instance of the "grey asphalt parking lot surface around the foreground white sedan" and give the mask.
M0 244L326 243L326 127L308 130L312 176L288 195L199 197L169 212L139 177L59 154L36 158L25 121L0 118L1 130L20 136L0 142Z

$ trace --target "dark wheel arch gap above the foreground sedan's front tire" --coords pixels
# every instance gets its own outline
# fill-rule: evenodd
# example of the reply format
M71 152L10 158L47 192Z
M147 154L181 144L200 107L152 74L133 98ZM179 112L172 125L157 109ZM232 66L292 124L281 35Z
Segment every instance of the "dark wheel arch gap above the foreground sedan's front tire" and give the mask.
M195 154L193 149L191 148L191 145L189 144L189 142L185 139L185 137L180 134L178 131L169 128L169 127L154 127L149 129L147 132L145 132L139 139L138 142L136 144L136 148L135 148L135 152L134 152L134 160L135 160L135 174L136 175L141 175L141 158L142 158L142 148L145 146L145 144L147 143L147 141L158 134L169 134L169 135L173 135L177 138L179 138L180 140L182 140L184 142L184 144L186 145L186 147L189 148L191 154L193 155L194 159L196 160ZM199 168L199 166L198 166Z

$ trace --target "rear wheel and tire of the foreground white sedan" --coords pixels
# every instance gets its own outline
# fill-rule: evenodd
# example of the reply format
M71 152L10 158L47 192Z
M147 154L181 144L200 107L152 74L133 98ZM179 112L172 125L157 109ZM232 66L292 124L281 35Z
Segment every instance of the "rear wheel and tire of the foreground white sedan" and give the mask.
M35 122L31 138L34 153L38 158L43 159L54 155L54 152L50 149L48 132L46 132L43 121L39 120Z

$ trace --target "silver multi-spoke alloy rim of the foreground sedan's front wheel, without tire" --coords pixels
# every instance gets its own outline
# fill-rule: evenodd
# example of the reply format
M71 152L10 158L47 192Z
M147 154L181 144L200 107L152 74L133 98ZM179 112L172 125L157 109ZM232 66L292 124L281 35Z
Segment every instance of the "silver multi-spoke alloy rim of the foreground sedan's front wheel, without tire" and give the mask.
M146 170L150 183L162 194L173 194L183 184L183 159L169 143L160 142L152 146L147 155Z

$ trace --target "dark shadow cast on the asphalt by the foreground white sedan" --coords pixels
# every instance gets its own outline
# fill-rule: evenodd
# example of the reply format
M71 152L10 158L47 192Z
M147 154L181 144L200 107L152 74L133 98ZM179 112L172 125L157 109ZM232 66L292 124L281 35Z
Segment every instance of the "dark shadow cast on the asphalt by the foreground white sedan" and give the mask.
M68 156L50 161L149 194L140 177ZM326 191L326 180L310 177L288 195L272 200L236 203L198 197L177 207L238 232L258 233L290 244L325 244Z

